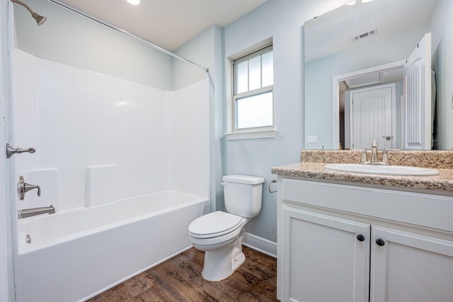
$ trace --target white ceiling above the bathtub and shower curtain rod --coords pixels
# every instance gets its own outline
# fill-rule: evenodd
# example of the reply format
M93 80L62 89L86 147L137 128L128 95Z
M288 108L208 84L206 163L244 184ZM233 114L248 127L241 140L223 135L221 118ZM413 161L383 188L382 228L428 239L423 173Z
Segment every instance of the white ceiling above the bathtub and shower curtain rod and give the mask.
M225 26L266 0L64 0L167 50L176 50L210 25Z

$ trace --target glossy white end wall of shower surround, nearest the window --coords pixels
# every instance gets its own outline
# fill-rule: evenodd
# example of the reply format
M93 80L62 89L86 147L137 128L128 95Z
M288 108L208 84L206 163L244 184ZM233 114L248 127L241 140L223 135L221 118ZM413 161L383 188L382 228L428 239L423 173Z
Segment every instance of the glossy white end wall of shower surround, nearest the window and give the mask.
M171 190L205 198L210 197L209 85L205 79L167 91L165 111L166 183Z

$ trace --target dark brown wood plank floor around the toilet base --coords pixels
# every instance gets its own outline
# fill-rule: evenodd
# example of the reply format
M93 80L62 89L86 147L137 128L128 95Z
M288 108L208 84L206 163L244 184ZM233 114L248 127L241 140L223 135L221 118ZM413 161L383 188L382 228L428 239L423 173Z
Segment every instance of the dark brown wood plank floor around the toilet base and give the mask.
M205 254L191 248L88 301L277 301L277 260L243 252L246 262L223 281L202 279Z

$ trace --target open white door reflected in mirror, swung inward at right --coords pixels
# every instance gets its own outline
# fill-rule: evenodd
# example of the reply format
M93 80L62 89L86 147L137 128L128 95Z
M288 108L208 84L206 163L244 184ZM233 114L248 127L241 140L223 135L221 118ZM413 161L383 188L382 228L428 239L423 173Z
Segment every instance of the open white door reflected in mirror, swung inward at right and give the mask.
M431 149L431 110L431 33L427 33L404 65L403 149Z

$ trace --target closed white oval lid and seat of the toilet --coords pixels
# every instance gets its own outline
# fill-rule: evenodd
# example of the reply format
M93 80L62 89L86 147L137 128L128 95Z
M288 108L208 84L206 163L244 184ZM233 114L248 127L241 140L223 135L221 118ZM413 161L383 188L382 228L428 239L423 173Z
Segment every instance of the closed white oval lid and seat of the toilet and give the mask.
M192 221L189 225L189 233L196 238L222 236L239 228L241 221L241 216L215 211Z

